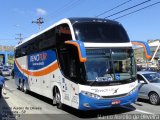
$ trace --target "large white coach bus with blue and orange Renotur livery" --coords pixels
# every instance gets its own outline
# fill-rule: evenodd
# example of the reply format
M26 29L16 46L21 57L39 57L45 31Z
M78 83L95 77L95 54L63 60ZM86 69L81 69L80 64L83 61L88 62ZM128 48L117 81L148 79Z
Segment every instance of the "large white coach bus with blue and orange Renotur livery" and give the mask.
M63 19L15 47L17 87L51 98L58 108L104 109L138 94L132 43L122 25L97 18Z

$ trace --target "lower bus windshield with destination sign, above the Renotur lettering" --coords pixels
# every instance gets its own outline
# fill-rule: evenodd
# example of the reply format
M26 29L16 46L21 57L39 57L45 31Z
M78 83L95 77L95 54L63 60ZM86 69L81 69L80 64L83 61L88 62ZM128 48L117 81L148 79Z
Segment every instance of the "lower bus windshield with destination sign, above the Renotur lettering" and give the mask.
M122 81L136 77L131 48L87 49L87 81Z

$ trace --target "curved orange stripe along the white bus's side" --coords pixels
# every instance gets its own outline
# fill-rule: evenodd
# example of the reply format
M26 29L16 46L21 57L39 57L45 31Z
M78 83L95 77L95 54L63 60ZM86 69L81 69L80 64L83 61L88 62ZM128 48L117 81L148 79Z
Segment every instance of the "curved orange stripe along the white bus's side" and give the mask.
M55 64L41 70L41 71L36 71L36 72L32 72L32 71L29 71L29 70L26 70L26 69L23 69L17 62L17 60L15 60L16 62L16 65L18 66L18 68L24 72L25 74L27 75L30 75L30 76L43 76L43 75L47 75L53 71L55 71L57 68L58 68L58 63L56 62Z

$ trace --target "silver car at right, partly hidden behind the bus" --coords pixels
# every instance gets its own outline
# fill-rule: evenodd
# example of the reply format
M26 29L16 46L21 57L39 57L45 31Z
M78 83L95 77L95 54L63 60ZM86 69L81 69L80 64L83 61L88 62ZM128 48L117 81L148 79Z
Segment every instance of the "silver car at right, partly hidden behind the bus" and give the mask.
M151 104L160 103L160 74L151 71L137 72L139 80L138 98L148 99Z

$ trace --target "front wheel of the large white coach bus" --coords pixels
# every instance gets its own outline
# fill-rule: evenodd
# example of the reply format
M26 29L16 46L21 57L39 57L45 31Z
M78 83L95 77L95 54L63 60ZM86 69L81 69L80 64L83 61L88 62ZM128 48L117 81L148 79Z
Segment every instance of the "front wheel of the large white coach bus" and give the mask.
M58 89L56 89L55 99L56 99L57 108L58 109L62 109L63 108L63 104L61 102L61 94L60 94Z

